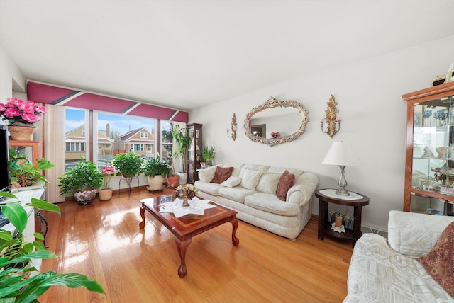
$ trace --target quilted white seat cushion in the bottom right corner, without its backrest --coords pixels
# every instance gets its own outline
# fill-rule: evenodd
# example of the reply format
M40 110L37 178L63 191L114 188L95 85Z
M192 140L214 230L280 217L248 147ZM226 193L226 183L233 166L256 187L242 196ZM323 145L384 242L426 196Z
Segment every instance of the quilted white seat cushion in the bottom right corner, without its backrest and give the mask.
M377 234L364 234L355 244L344 302L454 302L415 258L387 245Z

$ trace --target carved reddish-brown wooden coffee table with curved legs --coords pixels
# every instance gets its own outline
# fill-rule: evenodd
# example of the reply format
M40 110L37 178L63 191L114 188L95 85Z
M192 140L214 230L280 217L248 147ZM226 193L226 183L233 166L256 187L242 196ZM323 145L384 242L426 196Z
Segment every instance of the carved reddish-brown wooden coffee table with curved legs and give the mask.
M179 257L181 258L181 264L178 268L178 275L183 278L187 274L186 268L186 250L192 242L192 237L201 234L204 231L217 227L226 222L231 222L232 229L232 243L237 246L240 244L240 240L235 236L236 229L238 229L238 220L236 219L236 213L233 210L216 205L214 202L210 202L212 205L216 205L214 208L205 210L204 215L185 215L184 217L175 217L170 213L160 213L160 202L169 202L175 199L172 195L162 195L159 198L150 198L148 202L140 202L140 222L139 227L143 229L145 227L145 210L153 215L159 222L164 224L172 234L175 234L175 243L177 244L177 250Z

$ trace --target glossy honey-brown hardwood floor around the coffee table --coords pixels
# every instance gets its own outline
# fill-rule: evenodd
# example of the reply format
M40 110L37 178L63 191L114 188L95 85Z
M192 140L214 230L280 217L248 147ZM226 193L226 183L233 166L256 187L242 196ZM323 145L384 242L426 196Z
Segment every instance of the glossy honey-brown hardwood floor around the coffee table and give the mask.
M160 195L160 193L156 194ZM91 205L60 203L62 217L45 212L46 244L59 256L43 270L84 273L106 292L51 287L40 302L342 302L347 295L350 241L317 239L311 219L296 241L240 221L195 236L187 249L187 276L179 278L175 236L139 209L147 190L118 193Z

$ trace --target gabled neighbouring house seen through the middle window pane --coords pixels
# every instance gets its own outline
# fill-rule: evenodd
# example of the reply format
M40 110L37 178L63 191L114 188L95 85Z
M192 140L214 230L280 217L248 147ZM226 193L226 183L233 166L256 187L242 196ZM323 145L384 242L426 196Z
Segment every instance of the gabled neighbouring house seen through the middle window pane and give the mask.
M121 135L119 143L124 144L124 152L133 151L135 154L147 157L153 157L155 154L155 136L143 127ZM118 150L118 152L122 151Z

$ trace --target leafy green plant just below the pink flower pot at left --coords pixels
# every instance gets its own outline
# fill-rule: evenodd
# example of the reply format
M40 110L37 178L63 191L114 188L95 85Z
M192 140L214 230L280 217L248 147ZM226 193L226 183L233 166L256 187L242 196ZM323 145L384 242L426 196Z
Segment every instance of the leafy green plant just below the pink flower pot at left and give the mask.
M17 183L21 188L48 183L42 171L54 166L45 158L38 159L36 166L37 168L14 149L9 149L11 183Z

